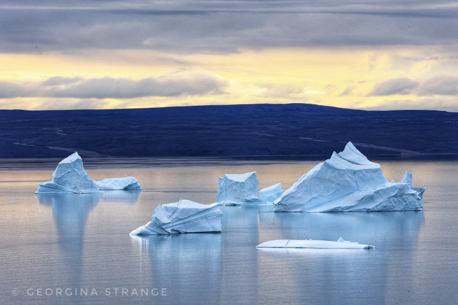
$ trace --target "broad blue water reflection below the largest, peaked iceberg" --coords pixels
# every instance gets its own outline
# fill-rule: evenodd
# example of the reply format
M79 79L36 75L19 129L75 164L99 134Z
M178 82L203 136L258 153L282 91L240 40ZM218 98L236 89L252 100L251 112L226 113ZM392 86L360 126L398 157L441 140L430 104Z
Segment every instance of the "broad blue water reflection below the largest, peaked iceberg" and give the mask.
M392 266L400 259L398 253L407 257L416 255L422 224L423 211L260 213L260 236L324 240L342 236L375 245L376 248L361 251L257 249L259 289L270 289L275 293L276 286L266 287L266 283L281 279L284 285L299 294L292 300L297 297L307 299L316 291L323 291L323 303L339 303L341 295L334 293L338 290L358 295L361 300L389 302L385 291L392 289L390 279L399 277L399 271ZM406 249L409 249L407 254ZM414 278L413 262L405 257L403 260L402 276ZM375 282L377 287L374 287Z

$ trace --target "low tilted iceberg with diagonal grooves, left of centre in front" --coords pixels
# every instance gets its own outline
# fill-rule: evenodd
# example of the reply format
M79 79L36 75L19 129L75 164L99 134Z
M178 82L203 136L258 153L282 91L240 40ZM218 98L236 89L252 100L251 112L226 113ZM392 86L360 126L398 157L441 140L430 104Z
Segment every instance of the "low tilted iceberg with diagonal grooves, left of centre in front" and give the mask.
M156 207L151 221L130 235L221 232L222 212L217 203L200 204L180 199Z

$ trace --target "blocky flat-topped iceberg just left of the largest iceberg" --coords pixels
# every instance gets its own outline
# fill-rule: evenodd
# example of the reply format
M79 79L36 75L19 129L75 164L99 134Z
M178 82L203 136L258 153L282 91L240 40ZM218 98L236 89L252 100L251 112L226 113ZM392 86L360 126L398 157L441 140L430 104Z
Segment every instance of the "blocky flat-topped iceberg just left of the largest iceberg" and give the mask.
M225 174L218 178L216 202L221 205L248 205L265 203L257 197L259 181L256 172Z

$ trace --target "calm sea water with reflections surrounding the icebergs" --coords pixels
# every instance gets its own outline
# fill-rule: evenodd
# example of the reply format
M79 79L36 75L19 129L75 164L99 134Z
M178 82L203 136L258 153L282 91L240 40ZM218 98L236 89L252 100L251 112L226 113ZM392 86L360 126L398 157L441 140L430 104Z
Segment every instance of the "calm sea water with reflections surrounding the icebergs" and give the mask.
M91 166L96 180L130 174L144 191L40 196L34 192L52 169L3 169L0 303L455 304L456 161L381 163L388 180L413 173L414 185L426 188L423 211L313 214L225 206L222 233L129 236L159 204L213 203L224 173L257 170L260 188L277 182L288 188L317 163ZM255 248L271 239L339 237L376 248Z

